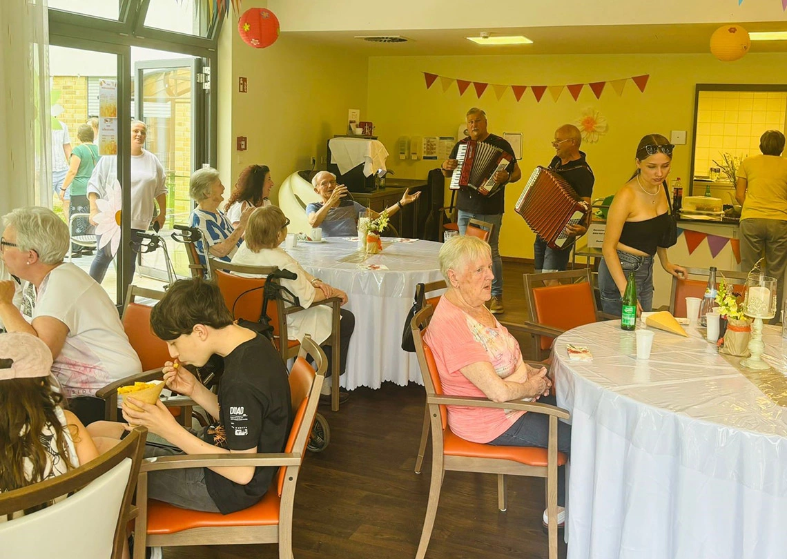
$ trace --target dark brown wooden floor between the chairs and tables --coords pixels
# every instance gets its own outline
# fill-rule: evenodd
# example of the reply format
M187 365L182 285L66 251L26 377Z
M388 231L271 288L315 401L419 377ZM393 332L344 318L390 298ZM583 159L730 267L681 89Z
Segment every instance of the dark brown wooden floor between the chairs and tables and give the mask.
M504 317L524 318L520 264L505 265ZM523 351L529 344L523 345ZM416 555L429 491L431 452L423 473L412 471L423 420L423 388L383 384L358 388L338 413L320 412L331 443L306 457L298 480L293 521L295 559L412 559ZM445 474L427 559L547 557L541 531L544 482L512 478L508 511L497 510L497 478ZM561 533L562 539L562 533ZM279 557L277 546L181 547L168 559ZM566 557L560 543L560 557Z

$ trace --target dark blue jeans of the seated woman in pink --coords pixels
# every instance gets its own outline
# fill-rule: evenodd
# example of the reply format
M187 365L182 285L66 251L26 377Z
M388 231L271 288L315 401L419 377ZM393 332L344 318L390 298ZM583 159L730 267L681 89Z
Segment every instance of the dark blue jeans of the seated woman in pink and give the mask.
M538 403L557 406L555 396L541 396ZM549 447L549 415L527 412L490 444L500 447ZM566 454L571 452L571 425L563 421L557 422L557 450ZM566 502L565 470L565 466L557 469L557 506L564 506Z

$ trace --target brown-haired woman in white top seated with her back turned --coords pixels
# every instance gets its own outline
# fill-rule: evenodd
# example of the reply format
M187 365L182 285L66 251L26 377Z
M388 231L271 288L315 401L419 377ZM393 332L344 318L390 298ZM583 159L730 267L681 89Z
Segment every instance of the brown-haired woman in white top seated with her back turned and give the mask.
M323 299L338 297L342 304L347 303L347 293L342 289L331 287L304 270L297 260L284 252L281 244L287 237L287 226L290 220L277 206L256 208L246 226L246 242L238 248L232 258L233 264L242 266L275 266L279 270L289 270L297 275L294 280L282 279L281 285L289 289L301 303L301 307L309 307ZM305 308L293 314L287 314L287 337L290 340L303 341L306 334L319 344L323 344L331 335L332 322L331 307L318 305ZM341 310L339 323L339 374L347 369L347 351L349 339L355 330L355 316L347 309ZM323 351L328 358L326 377L331 377L331 346L323 346ZM323 400L331 395L331 383L323 383ZM347 398L347 393L339 395L339 402Z

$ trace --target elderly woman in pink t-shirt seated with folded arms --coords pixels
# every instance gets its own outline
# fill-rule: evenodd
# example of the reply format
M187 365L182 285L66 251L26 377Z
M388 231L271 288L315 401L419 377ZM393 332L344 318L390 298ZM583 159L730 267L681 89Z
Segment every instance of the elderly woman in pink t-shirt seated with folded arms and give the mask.
M425 340L434 352L446 395L480 396L494 402L540 399L556 405L544 367L523 362L515 338L486 308L492 297L492 250L477 237L453 237L440 249L440 270L448 291L440 300ZM473 443L509 447L549 444L549 417L525 411L448 406L448 422L457 436ZM571 427L560 423L557 447L568 453ZM558 469L558 524L565 511L563 467ZM544 524L546 524L546 512Z

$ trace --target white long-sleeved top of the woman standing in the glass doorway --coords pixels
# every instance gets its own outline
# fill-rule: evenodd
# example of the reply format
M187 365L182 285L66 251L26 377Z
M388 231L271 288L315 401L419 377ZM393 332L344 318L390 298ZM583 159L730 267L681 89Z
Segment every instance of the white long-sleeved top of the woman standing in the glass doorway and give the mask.
M107 200L107 193L117 178L117 156L103 156L87 181L87 193L94 192ZM153 219L153 200L167 193L164 167L158 157L143 149L131 156L131 229L146 231Z

